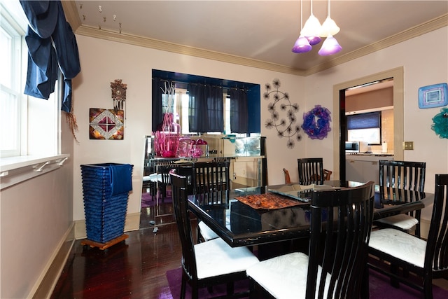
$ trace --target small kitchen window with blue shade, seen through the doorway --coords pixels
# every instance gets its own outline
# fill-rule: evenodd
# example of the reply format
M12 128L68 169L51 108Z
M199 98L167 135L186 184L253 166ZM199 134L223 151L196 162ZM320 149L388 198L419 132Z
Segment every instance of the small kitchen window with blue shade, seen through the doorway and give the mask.
M346 116L348 141L381 144L381 111Z

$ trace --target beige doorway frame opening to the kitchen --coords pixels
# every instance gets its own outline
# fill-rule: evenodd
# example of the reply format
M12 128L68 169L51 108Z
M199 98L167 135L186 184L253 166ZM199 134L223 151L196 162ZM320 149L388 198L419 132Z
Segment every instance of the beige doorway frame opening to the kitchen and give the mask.
M339 111L334 115L334 123L338 124L333 128L333 169L335 177L345 180L345 132L346 124L340 120L344 119L345 90L354 86L367 84L374 81L381 81L386 78L393 78L393 148L394 160L403 160L404 151L402 142L404 141L404 95L403 95L403 68L398 67L381 73L372 74L363 78L346 81L333 86L333 111Z

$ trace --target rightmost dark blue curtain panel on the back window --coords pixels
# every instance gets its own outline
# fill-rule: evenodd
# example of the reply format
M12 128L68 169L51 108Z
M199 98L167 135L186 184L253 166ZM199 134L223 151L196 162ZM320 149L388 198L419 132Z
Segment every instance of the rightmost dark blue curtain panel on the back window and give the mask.
M243 89L228 91L230 95L230 128L232 133L248 132L247 92Z

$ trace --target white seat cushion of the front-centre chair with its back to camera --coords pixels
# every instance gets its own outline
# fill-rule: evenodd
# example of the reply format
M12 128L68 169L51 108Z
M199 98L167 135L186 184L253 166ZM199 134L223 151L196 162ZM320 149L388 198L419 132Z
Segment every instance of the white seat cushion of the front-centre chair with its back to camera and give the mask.
M321 274L318 267L318 275ZM307 291L308 256L293 252L263 260L246 270L248 276L257 281L275 298L305 298ZM327 281L330 280L327 274ZM319 284L316 284L316 289ZM325 286L324 298L327 297L328 286Z

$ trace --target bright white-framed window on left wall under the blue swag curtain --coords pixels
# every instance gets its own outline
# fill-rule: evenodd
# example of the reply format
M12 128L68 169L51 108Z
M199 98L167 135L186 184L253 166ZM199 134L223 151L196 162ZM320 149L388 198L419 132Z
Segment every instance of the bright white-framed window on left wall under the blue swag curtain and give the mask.
M28 20L19 1L0 6L0 157L57 155L58 88L48 100L24 94Z

